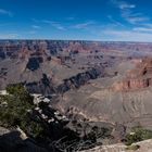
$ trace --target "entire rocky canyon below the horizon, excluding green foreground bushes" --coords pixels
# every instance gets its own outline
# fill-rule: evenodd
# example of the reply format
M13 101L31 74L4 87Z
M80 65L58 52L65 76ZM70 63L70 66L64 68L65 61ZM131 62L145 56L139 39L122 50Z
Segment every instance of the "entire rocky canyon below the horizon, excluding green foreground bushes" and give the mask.
M5 151L18 145L21 151L127 151L124 140L134 127L152 129L152 43L0 40L1 96L17 84L34 97L33 117L48 129L41 143L1 124ZM14 139L14 145L8 143ZM152 141L142 142L143 152Z

